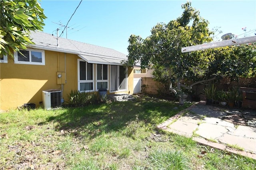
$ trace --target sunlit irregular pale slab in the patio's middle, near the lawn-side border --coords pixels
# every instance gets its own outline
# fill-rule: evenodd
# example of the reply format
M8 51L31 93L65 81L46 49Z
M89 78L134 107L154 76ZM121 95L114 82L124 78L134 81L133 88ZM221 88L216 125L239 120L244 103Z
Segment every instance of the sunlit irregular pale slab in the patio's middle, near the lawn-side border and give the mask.
M211 123L201 123L198 126L196 134L206 139L216 139L227 132L228 130L223 126L213 125Z

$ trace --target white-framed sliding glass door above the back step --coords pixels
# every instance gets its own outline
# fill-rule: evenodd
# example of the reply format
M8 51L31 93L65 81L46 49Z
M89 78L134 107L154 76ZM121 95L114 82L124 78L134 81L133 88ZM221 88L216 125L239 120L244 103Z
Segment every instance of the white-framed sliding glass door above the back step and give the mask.
M124 66L110 66L110 92L127 90L127 68Z

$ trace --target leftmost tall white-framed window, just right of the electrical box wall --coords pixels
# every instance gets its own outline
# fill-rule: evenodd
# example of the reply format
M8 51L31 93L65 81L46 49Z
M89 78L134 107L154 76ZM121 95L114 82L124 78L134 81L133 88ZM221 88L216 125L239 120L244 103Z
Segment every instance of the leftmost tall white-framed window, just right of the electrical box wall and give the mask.
M78 90L80 92L94 91L94 64L78 59Z

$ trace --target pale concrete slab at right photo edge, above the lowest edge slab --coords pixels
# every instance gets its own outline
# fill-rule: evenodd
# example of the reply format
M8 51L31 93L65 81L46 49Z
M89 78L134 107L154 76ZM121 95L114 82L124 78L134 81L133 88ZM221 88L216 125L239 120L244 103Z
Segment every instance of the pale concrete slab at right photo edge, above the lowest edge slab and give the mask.
M256 140L256 128L240 125L236 128L233 135Z

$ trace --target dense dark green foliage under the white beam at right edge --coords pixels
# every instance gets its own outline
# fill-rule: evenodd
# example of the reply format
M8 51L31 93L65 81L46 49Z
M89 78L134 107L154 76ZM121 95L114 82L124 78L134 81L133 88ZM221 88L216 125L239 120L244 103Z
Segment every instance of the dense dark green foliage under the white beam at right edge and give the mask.
M208 74L230 77L254 76L256 72L256 43L210 49L214 61L209 63Z

